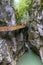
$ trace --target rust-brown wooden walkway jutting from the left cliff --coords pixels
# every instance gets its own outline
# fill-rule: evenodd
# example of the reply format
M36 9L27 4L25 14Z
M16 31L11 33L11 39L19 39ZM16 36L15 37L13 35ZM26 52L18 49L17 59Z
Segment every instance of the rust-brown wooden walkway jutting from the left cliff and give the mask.
M26 27L25 25L3 26L3 27L0 27L0 32L15 31L15 30L22 29L25 27Z

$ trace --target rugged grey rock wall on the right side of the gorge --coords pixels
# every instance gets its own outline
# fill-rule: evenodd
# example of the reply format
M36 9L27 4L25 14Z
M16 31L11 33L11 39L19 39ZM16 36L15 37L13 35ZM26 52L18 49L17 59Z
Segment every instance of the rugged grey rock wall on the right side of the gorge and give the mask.
M31 17L29 41L43 62L43 7L38 0L34 0Z

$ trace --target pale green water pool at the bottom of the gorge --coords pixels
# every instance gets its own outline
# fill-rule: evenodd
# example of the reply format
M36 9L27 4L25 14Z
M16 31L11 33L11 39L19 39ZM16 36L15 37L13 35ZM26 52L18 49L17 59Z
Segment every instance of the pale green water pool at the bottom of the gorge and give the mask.
M40 58L35 55L31 50L24 54L19 61L17 62L17 65L43 65Z

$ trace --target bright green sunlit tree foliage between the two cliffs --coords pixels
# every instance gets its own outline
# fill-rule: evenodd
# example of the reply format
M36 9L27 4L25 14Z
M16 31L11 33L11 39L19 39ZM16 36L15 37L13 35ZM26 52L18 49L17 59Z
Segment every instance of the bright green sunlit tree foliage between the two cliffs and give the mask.
M24 14L29 13L32 7L32 1L33 0L20 0L18 5L15 4L17 21L20 21Z

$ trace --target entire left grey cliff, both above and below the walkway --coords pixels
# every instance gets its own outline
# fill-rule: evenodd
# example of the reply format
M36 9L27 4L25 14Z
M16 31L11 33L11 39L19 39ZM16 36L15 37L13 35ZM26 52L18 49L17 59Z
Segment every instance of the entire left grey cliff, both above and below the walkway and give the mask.
M10 0L0 0L0 3L0 26L15 26L15 12ZM16 60L28 50L24 29L20 31L0 32L0 64L16 65Z

